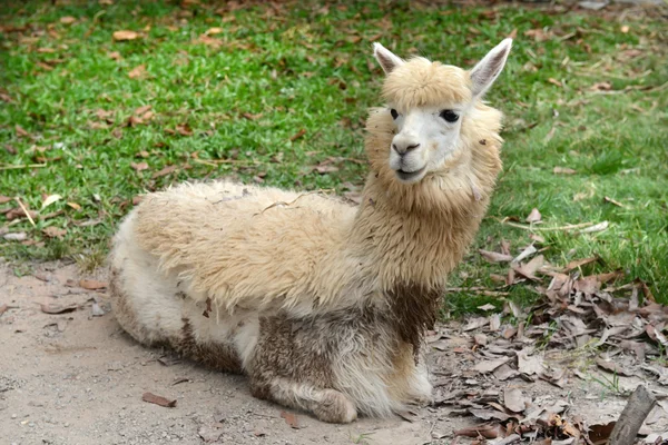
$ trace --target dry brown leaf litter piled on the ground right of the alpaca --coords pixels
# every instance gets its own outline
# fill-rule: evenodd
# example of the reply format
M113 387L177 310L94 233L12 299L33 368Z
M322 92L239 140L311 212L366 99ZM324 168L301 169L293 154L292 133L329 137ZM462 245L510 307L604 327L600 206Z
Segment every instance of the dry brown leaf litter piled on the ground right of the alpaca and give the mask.
M654 300L646 283L619 284L623 270L586 275L588 267L601 265L598 256L559 267L533 244L511 259L507 241L501 250L479 254L485 261L507 264L512 280L502 287L530 286L540 295L538 300L524 308L504 300L503 314L472 316L459 327L438 326L426 339L442 352L435 356L432 406L448 406L451 416L482 422L456 431L456 436L497 445L591 445L609 439L615 422L576 413L578 406L563 392L558 393L563 398L532 393L531 385L539 380L563 390L577 379L603 382L611 394L623 396L629 389L618 378L636 378L657 397L668 398L660 389L668 386L668 370L657 362L668 346L668 307ZM449 372L453 362L458 365ZM657 409L657 416L668 421L668 400L665 409Z

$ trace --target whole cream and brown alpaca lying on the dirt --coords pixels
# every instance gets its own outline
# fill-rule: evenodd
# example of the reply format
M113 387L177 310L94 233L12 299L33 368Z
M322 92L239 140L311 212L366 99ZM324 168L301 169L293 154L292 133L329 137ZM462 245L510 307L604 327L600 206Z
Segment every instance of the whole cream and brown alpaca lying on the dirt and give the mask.
M110 255L120 326L331 423L425 403L423 336L501 170L482 97L512 41L463 70L383 46L360 206L229 181L148 195Z

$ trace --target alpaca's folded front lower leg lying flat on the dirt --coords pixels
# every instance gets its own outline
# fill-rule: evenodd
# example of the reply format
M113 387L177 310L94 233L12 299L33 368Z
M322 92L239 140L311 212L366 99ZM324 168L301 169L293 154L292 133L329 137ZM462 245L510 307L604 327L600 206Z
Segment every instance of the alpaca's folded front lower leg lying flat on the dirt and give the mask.
M276 377L265 384L252 380L250 390L255 397L311 412L323 422L347 424L357 418L353 402L336 389L320 389L310 384Z

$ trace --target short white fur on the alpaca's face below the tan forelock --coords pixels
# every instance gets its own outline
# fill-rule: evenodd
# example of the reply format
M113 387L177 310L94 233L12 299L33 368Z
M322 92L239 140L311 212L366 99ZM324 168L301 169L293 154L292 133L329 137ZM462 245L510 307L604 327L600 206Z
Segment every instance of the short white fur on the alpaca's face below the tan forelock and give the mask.
M459 119L455 122L443 119L444 109L454 111ZM397 134L390 146L390 168L396 171L399 180L416 182L429 171L438 170L456 150L464 107L396 111Z

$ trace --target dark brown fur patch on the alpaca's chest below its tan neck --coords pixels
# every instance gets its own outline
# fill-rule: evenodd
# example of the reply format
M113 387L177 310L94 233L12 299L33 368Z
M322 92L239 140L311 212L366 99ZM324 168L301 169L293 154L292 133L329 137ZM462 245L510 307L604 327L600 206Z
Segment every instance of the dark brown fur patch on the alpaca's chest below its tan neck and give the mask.
M423 286L397 285L387 293L393 330L413 347L418 362L424 332L436 322L442 293Z

